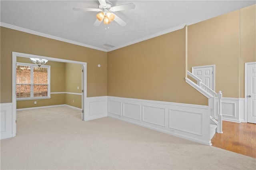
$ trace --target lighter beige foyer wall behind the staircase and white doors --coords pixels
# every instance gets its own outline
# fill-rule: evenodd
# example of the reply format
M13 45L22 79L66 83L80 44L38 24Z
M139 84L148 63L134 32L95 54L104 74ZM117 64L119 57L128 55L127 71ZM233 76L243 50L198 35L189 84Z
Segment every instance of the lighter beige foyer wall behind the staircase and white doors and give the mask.
M188 26L188 70L215 64L215 91L223 97L244 97L244 63L256 61L255 8Z

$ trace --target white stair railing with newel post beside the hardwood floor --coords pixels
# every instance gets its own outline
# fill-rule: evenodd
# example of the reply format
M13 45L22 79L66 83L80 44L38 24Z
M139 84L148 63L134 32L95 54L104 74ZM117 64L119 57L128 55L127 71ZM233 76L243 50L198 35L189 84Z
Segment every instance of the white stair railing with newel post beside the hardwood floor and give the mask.
M206 86L204 83L202 83L202 80L199 79L196 75L192 74L190 71L187 71L187 73L190 77L195 79L197 83L194 83L192 80L188 78L185 78L186 82L190 84L192 87L194 87L196 90L198 90L200 93L202 93L204 96L206 96L208 99L211 99L213 101L213 104L215 104L215 97L218 97L218 121L216 121L211 116L210 116L210 119L212 120L212 122L214 122L217 125L217 133L222 133L222 113L221 113L222 93L221 91L216 93L215 91L210 89L208 86ZM210 107L210 104L209 104L209 107ZM214 105L211 107L214 107ZM211 109L209 110L212 112Z

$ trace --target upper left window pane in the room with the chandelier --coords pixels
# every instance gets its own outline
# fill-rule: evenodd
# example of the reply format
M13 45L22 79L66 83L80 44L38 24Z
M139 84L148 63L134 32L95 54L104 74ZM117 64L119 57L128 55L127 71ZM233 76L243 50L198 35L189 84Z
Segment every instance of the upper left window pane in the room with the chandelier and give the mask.
M17 84L30 84L30 67L29 66L16 66L16 83Z

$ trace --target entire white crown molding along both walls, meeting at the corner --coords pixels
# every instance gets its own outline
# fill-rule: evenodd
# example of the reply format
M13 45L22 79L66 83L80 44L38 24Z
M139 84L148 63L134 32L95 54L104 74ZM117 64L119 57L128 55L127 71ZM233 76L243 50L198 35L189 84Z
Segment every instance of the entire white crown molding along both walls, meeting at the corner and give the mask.
M13 29L13 30L18 30L18 31L26 32L26 33L29 33L29 34L34 34L34 35L37 35L37 36L42 36L42 37L46 37L46 38L62 41L62 42L72 43L72 44L80 45L80 46L83 46L83 47L88 47L88 48L97 49L97 50L104 51L104 52L109 52L109 51L113 51L115 49L126 47L128 45L132 45L134 43L138 43L138 42L142 42L142 41L148 40L150 38L154 38L154 37L157 37L157 36L162 36L164 34L180 30L180 29L184 28L186 26L186 24L175 26L175 27L169 28L167 30L163 30L161 32L157 32L155 34L151 34L149 36L146 36L146 37L143 37L143 38L139 38L137 40L134 40L134 41L131 41L131 42L128 42L128 43L124 43L122 45L118 45L118 46L110 48L110 49L103 49L103 48L99 48L99 47L94 47L92 45L88 45L88 44L84 44L84 43L79 43L79 42L75 42L75 41L72 41L72 40L67 40L67 39L64 39L64 38L56 37L56 36L51 36L51 35L48 35L48 34L44 34L44 33L41 33L41 32L36 32L36 31L33 31L33 30L28 30L26 28L21 28L21 27L18 27L18 26L13 26L11 24L6 24L4 22L0 22L0 26L6 27L6 28L10 28L10 29Z

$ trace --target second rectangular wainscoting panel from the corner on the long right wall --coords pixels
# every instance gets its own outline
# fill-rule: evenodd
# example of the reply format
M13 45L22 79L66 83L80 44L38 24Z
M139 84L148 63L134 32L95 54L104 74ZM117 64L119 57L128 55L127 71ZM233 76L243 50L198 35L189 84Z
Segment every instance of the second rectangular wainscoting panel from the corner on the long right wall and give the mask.
M124 117L140 120L140 105L123 103Z

